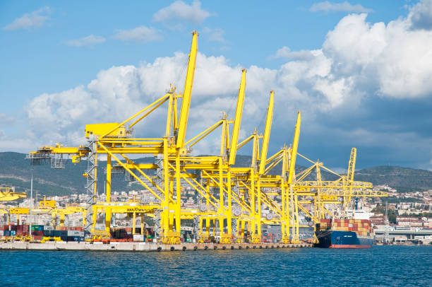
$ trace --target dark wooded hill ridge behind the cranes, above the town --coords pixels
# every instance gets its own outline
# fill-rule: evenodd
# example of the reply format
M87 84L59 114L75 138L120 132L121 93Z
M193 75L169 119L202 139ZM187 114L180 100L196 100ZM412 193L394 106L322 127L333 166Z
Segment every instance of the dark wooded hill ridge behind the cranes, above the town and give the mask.
M140 158L139 163L152 162L154 158ZM250 156L237 156L237 167L247 167L251 165ZM100 160L98 164L98 174L104 174L107 163ZM40 165L33 167L34 189L40 195L66 195L73 193L85 193L85 178L83 172L87 168L87 162L66 163L64 169L54 169L50 165ZM305 167L296 166L296 172L304 170ZM277 165L272 175L280 175L281 165ZM311 175L309 180L313 180L315 175ZM322 172L323 180L335 180L335 175ZM432 172L427 170L416 170L412 168L401 168L397 166L378 166L356 171L355 179L372 182L373 185L389 185L401 192L418 191L432 189ZM124 175L116 175L112 181L113 191L131 190L136 185L124 180ZM98 178L99 192L104 189L104 177ZM30 189L30 163L25 159L23 153L0 153L0 185L16 187L17 192L25 192Z

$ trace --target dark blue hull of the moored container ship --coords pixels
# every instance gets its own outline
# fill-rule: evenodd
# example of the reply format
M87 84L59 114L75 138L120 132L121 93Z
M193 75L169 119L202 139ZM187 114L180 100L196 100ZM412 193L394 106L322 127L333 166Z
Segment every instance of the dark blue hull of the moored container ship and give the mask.
M321 248L370 248L375 237L360 237L354 231L317 231L316 237Z

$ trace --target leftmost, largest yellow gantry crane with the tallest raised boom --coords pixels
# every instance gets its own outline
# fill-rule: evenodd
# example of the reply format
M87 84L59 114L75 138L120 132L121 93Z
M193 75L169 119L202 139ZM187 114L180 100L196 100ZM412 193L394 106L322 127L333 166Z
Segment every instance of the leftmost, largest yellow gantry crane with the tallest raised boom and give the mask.
M87 146L63 147L56 145L54 147L44 146L28 155L33 164L44 163L51 160L52 167L56 168L63 159L63 155L72 157L73 163L77 163L81 158L86 157L88 160L88 169L85 177L88 179L88 226L90 233L95 234L95 216L100 206L104 206L106 217L106 230L109 232L109 223L113 210L117 210L119 204L111 201L111 181L112 168L123 168L131 177L140 182L143 187L148 189L159 201L158 207L161 210L161 227L162 242L177 243L180 238L180 213L181 213L181 187L180 187L180 156L186 156L184 148L184 139L186 136L186 126L188 113L191 103L191 93L193 87L193 77L196 66L196 54L198 51L198 33L193 32L191 52L189 54L188 70L186 73L186 82L184 93L176 93L176 88L172 87L162 98L152 102L152 104L140 110L132 117L129 117L121 123L107 124L88 124L85 128L85 135L89 142ZM181 99L180 113L177 110L178 100ZM160 107L164 102L168 102L167 125L166 131L161 138L132 138L131 130L142 121L151 112ZM126 129L128 124L128 129ZM107 156L107 187L106 202L96 202L97 195L97 156L104 154ZM156 164L136 164L126 155L128 154L151 154L162 158L160 165ZM170 158L171 157L171 158ZM112 165L112 160L116 165ZM54 165L53 165L54 163ZM170 170L172 168L172 170ZM143 170L157 170L162 174L160 182L155 182ZM175 176L172 177L172 171ZM176 181L176 194L172 184ZM145 180L152 184L149 187ZM150 204L150 206L154 206ZM141 206L146 210L145 206ZM153 209L150 209L153 211ZM173 211L173 212L172 212ZM174 221L174 218L176 221ZM175 228L173 223L175 222Z

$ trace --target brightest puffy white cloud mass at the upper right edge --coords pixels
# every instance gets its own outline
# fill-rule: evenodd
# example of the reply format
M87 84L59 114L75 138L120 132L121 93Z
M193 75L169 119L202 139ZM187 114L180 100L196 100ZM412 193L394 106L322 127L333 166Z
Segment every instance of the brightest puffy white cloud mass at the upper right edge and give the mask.
M432 31L410 26L408 18L385 25L352 14L328 33L323 53L332 60L332 73L354 78L357 89L395 98L430 95Z

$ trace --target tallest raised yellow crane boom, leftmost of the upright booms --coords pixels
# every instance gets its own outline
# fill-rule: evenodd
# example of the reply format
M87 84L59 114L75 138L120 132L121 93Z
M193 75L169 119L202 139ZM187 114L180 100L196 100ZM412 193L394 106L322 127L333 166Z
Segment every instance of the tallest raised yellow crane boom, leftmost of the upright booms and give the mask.
M191 95L193 86L193 76L195 75L196 54L198 51L198 32L192 32L191 53L189 54L188 71L186 74L186 82L184 83L183 100L181 102L179 132L177 134L176 147L184 146L184 138L186 136L186 126L188 124L189 107L191 107Z

